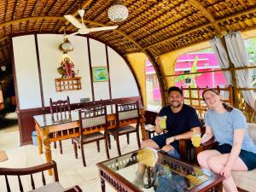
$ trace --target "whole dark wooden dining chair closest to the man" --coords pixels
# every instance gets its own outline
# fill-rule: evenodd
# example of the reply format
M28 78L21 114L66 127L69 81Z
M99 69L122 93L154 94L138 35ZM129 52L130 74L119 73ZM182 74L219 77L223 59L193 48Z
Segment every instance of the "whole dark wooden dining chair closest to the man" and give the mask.
M115 104L116 111L116 124L117 128L108 130L108 145L111 146L111 141L109 135L112 135L115 138L118 153L121 155L120 146L119 146L119 136L126 135L127 143L130 143L129 134L136 132L137 134L137 145L138 148L141 148L140 137L139 137L139 107L138 102L122 103ZM133 125L132 125L133 124ZM136 124L134 126L134 124Z

